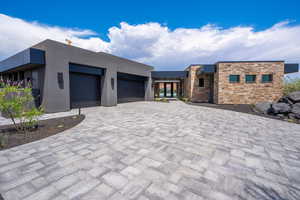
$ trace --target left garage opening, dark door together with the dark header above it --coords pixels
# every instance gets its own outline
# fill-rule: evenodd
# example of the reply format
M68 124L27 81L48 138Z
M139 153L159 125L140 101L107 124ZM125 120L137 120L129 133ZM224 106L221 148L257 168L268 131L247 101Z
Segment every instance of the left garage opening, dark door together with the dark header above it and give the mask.
M70 64L71 108L100 106L103 69Z

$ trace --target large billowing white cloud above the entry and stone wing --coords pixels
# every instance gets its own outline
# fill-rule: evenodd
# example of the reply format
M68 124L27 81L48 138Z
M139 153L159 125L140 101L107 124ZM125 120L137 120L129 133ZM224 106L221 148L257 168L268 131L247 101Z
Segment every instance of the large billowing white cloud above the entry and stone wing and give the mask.
M158 66L186 66L221 60L300 60L300 26L287 22L255 32L252 27L169 30L158 23L109 30L110 48L121 56Z

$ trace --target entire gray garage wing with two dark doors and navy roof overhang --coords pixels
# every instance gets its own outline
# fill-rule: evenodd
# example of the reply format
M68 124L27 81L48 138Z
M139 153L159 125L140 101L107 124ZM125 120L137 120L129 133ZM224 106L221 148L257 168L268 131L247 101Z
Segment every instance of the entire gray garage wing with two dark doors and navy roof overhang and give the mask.
M45 40L0 62L4 79L31 81L46 112L151 100L153 67Z

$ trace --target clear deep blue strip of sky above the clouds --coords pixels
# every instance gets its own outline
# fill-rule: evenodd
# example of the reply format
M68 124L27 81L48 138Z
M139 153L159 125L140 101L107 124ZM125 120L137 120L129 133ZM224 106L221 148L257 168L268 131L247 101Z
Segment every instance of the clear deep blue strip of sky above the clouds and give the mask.
M110 27L127 22L158 22L169 28L198 28L208 23L223 28L239 25L268 28L279 21L300 23L300 1L2 1L3 14L49 25L91 29L106 38Z

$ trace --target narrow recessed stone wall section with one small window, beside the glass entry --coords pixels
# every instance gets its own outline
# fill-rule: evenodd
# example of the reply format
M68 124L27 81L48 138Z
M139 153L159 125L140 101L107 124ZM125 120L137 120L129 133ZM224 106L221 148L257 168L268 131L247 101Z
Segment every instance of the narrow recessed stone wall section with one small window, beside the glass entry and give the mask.
M197 70L201 66L190 66L189 76L186 81L186 95L192 102L208 102L210 97L211 76L212 75L199 75ZM199 78L204 78L204 87L199 87Z

